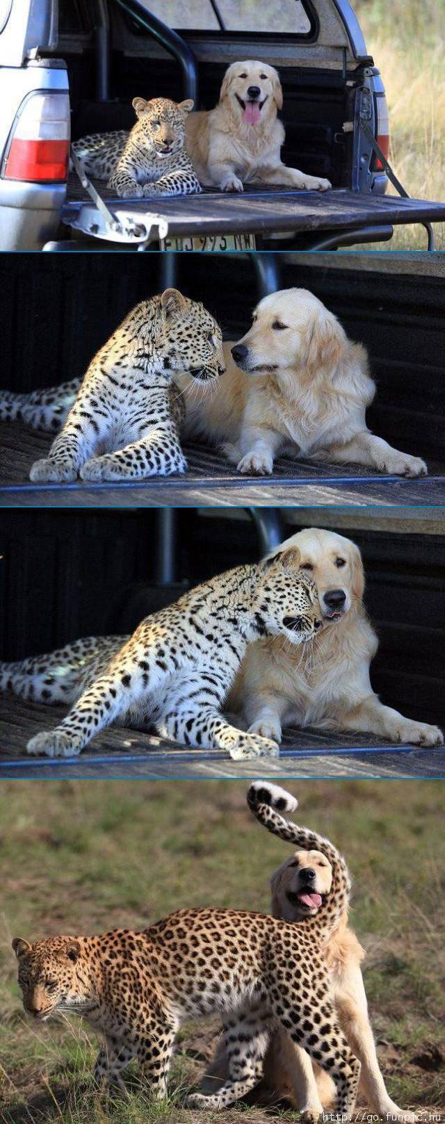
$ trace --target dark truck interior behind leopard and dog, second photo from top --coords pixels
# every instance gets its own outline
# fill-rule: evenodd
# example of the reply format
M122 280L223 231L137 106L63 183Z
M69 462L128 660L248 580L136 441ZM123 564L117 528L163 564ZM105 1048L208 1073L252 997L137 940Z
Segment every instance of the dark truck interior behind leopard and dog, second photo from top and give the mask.
M172 283L205 302L226 338L239 339L262 294L264 277L258 269L270 271L273 264L271 255L219 254L212 255L209 273L203 254L81 254L75 260L64 254L57 261L44 254L30 272L19 254L8 262L0 260L2 383L16 391L30 391L43 383L79 378L128 310ZM267 285L311 290L339 317L348 336L365 344L378 387L367 424L397 448L426 459L429 477L412 481L412 487L426 489L428 502L435 502L435 489L443 487L445 474L445 453L442 457L438 454L444 450L445 428L443 280L430 272L421 277L385 272L380 262L371 269L351 268L351 262L348 266L338 256L335 261L329 257L329 266L312 264L310 255L305 264L301 255L293 260L287 256L269 274ZM1 443L8 455L0 484L25 484L33 460L45 455L49 441L51 435L33 434L19 423L3 423ZM225 481L236 478L245 486L245 478L216 450L203 451L203 444L187 448L190 471L201 483L206 475L220 475ZM348 479L372 477L372 470L281 457L270 479L276 482L280 477L320 482L343 479L347 487ZM379 487L384 490L384 484Z

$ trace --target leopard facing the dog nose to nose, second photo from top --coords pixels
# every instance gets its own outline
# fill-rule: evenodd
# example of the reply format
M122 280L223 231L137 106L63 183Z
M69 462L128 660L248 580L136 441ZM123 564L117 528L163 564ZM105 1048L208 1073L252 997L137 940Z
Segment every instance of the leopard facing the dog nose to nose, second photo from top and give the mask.
M179 433L184 407L172 381L184 366L202 384L222 374L221 333L201 303L166 289L136 305L97 353L30 479L67 481L80 473L82 480L136 480L184 472ZM36 404L37 392L33 399ZM7 415L13 409L9 395Z

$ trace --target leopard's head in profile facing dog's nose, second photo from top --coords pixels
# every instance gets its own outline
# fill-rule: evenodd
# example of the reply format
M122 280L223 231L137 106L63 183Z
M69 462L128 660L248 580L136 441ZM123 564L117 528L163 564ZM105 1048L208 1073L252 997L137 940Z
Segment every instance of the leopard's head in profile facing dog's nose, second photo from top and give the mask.
M226 370L221 329L207 308L175 289L161 297L158 341L164 368L185 371L197 382L209 382Z

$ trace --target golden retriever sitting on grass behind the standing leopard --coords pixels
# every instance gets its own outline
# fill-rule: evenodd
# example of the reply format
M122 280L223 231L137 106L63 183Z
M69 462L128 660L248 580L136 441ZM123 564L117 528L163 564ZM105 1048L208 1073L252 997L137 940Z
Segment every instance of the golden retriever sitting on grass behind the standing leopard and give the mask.
M267 782L265 787L273 789L275 796L290 795ZM284 818L287 819L285 814ZM273 832L273 827L270 830ZM329 894L332 876L333 868L327 855L320 851L296 851L272 874L272 915L297 924L303 923L308 916L316 917ZM327 932L320 923L320 935L325 932L325 959L330 971L338 1021L351 1050L362 1063L360 1091L372 1113L383 1118L389 1115L392 1120L415 1122L416 1115L399 1108L384 1086L363 985L361 964L365 952L348 925L347 908L334 930ZM226 1048L224 1039L220 1039L203 1078L202 1091L215 1093L227 1076ZM290 1100L302 1114L302 1118L311 1124L323 1118L324 1111L333 1109L335 1087L329 1075L317 1063L312 1064L305 1050L296 1046L285 1031L276 1025L271 1035L263 1079L255 1090L255 1099L273 1103L279 1098Z

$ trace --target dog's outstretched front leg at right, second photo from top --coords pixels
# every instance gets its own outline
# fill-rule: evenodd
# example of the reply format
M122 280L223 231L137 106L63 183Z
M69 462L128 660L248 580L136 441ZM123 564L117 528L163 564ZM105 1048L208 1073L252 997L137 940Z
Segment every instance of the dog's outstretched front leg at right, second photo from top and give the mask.
M317 450L314 453L314 460L333 461L340 464L366 464L369 468L378 469L379 472L388 472L397 477L425 477L428 473L425 461L420 460L419 456L400 453L382 437L376 437L367 429L356 433L344 445L336 444Z

